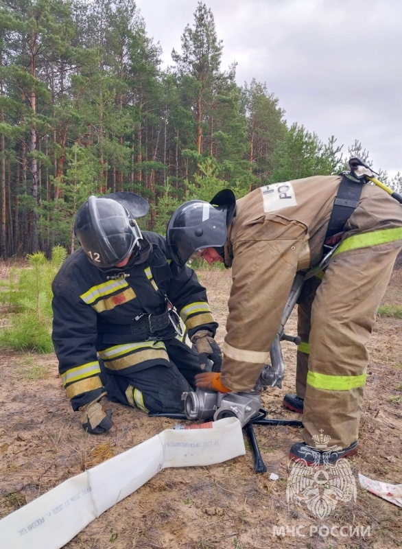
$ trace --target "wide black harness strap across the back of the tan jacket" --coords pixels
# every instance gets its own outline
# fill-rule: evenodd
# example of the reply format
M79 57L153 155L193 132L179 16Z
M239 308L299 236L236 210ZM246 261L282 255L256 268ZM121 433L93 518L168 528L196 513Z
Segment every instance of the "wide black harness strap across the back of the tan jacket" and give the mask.
M338 233L342 233L346 222L359 205L360 196L364 182L351 179L342 174L342 180L338 194L333 202L331 217L329 218L327 234L324 242Z

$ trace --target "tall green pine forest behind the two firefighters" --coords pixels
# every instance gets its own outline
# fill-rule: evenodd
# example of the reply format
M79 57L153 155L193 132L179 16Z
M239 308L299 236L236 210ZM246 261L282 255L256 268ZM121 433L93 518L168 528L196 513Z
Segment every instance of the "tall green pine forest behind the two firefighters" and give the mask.
M367 157L357 141L345 152L334 136L289 126L265 82L239 86L235 60L222 67L223 48L202 2L163 68L130 0L1 0L1 258L70 253L91 194L140 194L142 228L164 233L185 200L226 187L239 198L336 173L348 152ZM399 174L388 185L400 189Z

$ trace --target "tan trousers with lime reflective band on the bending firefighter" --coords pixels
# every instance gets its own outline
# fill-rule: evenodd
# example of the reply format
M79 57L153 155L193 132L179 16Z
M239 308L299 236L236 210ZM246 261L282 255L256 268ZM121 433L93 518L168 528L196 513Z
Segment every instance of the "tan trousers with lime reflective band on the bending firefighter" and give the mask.
M305 398L303 439L309 445L320 434L331 437L329 447L344 448L359 438L366 344L401 245L346 245L322 280L305 281L298 303L296 393Z

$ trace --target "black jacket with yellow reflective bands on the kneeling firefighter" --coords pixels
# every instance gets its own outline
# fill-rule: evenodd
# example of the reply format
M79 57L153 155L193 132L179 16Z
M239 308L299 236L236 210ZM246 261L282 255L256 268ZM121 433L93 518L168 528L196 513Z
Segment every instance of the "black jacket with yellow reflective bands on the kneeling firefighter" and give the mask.
M52 338L73 410L102 394L99 356L118 375L168 364L164 339L184 340L199 329L215 335L217 323L196 273L171 261L161 235L144 231L140 244L124 268L112 269L97 268L79 248L53 281ZM172 306L185 328L181 336L170 322L159 329L159 318Z

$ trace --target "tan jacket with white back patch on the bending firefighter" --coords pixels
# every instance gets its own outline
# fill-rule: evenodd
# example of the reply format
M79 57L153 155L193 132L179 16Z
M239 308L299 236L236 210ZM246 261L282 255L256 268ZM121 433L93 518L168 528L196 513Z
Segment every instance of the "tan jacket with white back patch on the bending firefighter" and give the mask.
M296 272L315 266L322 257L340 180L340 176L298 179L261 187L237 200L225 246L226 264L233 269L222 364L222 383L228 388L241 391L254 386L269 358ZM401 205L375 185L364 185L343 239L373 231L379 231L383 240L386 235L391 242L382 246L394 250L386 261L387 274L402 245L401 225ZM399 232L388 231L395 228ZM371 240L364 241L362 248L367 250L368 244ZM365 268L372 268L366 256L363 260Z

